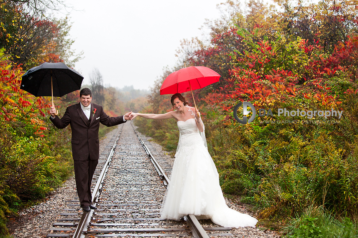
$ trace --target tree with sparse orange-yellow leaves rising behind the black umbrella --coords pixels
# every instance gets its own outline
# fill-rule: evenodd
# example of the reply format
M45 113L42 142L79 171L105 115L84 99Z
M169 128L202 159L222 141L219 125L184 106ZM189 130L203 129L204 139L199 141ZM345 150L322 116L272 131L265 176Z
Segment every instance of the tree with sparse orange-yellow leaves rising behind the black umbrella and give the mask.
M70 28L67 17L50 20L31 14L24 5L0 3L0 44L25 70L44 62L73 66L81 59L82 52L71 49Z

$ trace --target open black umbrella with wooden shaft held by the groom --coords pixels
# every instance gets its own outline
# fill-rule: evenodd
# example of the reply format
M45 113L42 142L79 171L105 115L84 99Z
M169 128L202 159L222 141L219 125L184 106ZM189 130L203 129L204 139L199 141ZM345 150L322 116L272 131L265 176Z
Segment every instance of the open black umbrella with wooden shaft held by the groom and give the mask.
M34 96L62 97L81 89L83 76L64 63L43 63L29 69L21 79L20 89ZM56 112L57 115L58 112Z

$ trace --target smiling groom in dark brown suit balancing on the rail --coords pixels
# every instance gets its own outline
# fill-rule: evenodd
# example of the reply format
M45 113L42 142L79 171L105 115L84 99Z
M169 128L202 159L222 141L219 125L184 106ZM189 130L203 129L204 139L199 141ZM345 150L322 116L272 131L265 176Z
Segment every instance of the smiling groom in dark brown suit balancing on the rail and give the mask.
M123 116L108 116L101 105L91 103L92 92L89 88L83 88L79 92L79 98L80 102L68 106L62 118L55 115L56 110L51 106L50 120L59 129L71 124L72 157L78 198L82 209L89 212L91 209L97 209L92 205L91 182L100 154L100 123L107 127L125 123L130 119L131 112Z

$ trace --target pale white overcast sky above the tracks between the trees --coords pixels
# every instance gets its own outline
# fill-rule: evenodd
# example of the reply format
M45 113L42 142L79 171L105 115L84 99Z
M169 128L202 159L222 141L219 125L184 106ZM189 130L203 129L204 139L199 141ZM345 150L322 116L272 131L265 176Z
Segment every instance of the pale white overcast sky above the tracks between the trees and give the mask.
M148 89L178 58L180 40L202 35L205 19L217 19L221 0L68 1L72 48L84 58L75 69L89 84L94 68L105 86ZM62 16L63 17L63 16ZM209 31L206 30L208 33Z

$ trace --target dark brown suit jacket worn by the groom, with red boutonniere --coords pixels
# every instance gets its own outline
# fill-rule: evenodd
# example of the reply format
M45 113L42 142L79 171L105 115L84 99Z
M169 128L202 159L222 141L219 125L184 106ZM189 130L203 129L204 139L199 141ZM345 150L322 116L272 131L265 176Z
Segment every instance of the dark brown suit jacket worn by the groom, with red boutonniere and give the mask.
M97 110L93 115L95 108ZM68 124L71 125L72 158L74 160L87 160L88 156L91 160L97 160L100 154L100 140L98 139L100 123L112 127L124 123L123 117L110 117L103 111L101 105L91 103L91 122L88 123L80 103L77 103L67 107L62 118L55 116L55 118L50 117L50 120L59 129L67 127Z

